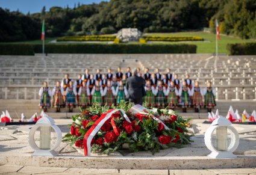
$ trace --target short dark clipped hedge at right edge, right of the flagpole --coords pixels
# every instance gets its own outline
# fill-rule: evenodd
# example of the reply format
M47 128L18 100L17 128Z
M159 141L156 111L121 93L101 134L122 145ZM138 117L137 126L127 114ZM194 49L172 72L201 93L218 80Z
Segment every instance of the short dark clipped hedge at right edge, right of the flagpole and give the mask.
M228 55L256 55L256 43L236 43L226 45Z

